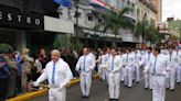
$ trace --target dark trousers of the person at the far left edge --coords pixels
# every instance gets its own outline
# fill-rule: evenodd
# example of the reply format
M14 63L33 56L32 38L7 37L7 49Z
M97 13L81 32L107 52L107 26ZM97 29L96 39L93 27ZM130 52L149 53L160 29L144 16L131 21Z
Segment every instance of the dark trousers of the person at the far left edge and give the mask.
M8 92L8 78L0 78L0 101L6 101Z

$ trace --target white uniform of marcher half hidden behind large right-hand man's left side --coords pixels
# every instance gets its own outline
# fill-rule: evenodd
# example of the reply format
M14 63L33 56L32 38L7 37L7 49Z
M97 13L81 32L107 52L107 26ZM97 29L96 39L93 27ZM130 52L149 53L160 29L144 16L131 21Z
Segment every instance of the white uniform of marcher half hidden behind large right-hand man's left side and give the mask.
M146 53L142 57L143 59L143 65L146 66L149 60L152 58L152 53ZM146 67L143 67L146 68ZM149 68L149 67L147 67ZM149 88L149 89L152 89L152 76L151 74L149 74L149 71L147 72L143 72L143 78L145 78L145 88Z

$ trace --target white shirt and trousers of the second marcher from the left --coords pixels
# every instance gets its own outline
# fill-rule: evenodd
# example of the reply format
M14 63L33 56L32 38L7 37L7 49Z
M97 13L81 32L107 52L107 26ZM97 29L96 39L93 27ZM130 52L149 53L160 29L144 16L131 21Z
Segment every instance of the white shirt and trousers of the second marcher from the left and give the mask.
M92 70L95 68L95 58L89 55L83 55L79 57L76 64L76 70L81 71L81 90L82 94L85 97L89 96L89 90L92 86Z

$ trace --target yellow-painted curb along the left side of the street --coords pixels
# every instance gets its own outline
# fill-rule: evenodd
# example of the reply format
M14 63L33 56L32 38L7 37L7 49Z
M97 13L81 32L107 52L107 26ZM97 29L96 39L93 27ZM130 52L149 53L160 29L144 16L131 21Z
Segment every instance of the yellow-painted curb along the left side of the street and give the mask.
M93 79L98 79L98 75L94 75ZM78 85L78 83L79 83L79 79L72 80L71 83L67 86L67 88ZM45 96L47 94L47 92L49 92L49 89L42 89L39 91L28 92L22 96L8 99L7 101L26 101L36 97Z

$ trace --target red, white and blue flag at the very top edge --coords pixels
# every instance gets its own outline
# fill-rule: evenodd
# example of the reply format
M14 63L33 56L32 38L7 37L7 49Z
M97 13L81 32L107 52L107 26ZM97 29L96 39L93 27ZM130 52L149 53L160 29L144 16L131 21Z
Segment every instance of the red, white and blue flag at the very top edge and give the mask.
M107 9L106 2L102 0L91 0L88 5L92 5L94 8L99 8L99 9Z

